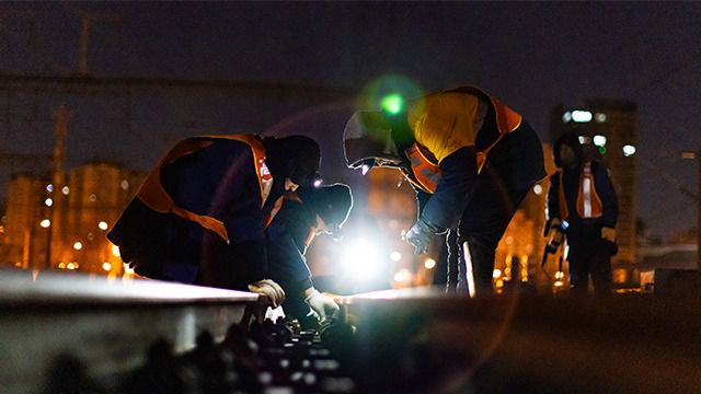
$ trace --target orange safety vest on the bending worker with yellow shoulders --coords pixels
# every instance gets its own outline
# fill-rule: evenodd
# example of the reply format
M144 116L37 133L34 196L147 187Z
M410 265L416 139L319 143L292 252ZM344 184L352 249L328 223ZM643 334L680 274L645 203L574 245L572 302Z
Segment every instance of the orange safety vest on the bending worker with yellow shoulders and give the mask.
M490 94L481 91L478 88L461 86L449 90L447 92L459 92L475 95L484 101L490 102L492 104L492 107L494 108L496 127L499 135L486 148L476 152L476 166L479 174L482 171L484 162L486 161L486 157L492 148L494 148L502 140L502 138L504 138L504 136L516 130L518 126L521 125L524 118L517 112L502 104L502 102L499 102L497 99L491 96ZM409 157L412 167L411 174L409 171L403 171L406 178L422 190L434 194L441 177L440 167L438 166L438 161L436 160L436 158L426 148L416 142L414 142L414 144L409 150L406 150L405 153Z

